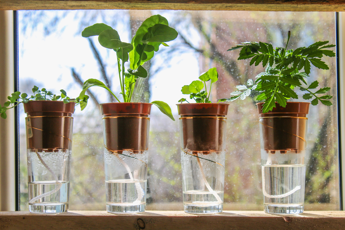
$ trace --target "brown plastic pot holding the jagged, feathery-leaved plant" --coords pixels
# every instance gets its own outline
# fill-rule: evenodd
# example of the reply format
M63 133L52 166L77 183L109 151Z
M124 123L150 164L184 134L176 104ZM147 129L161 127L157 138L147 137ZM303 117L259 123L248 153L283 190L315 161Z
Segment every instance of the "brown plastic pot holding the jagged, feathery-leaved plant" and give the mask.
M257 103L262 148L266 152L299 153L306 149L307 114L309 102L287 102L267 113L262 112L263 102Z

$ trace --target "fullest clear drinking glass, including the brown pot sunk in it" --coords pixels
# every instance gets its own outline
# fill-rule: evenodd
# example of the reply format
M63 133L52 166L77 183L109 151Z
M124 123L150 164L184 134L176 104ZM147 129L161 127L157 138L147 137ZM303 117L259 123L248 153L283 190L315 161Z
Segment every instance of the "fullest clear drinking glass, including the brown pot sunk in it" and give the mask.
M299 214L304 211L306 114L271 114L259 118L264 211Z

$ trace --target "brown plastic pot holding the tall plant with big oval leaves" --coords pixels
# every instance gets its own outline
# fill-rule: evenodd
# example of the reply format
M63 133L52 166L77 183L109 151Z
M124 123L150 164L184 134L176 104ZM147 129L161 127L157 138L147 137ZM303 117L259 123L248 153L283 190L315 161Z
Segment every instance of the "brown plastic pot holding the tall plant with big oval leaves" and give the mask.
M100 104L103 115L103 139L108 151L140 153L148 150L150 103Z

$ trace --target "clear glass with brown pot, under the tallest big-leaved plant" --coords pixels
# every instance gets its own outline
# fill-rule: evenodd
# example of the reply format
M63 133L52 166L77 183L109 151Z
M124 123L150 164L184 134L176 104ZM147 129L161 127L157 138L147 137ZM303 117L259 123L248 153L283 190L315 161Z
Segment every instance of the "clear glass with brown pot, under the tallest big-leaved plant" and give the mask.
M149 103L101 104L108 212L145 211L150 108Z

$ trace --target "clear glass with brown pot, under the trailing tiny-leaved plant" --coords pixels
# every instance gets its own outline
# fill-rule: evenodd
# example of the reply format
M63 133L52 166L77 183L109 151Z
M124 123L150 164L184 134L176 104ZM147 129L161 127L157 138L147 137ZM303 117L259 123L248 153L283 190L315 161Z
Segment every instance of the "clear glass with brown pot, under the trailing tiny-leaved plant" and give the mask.
M48 106L46 106L48 103ZM69 107L69 111L32 112L31 108ZM30 101L24 105L27 134L29 210L68 211L74 103Z

